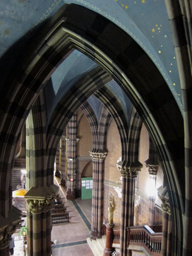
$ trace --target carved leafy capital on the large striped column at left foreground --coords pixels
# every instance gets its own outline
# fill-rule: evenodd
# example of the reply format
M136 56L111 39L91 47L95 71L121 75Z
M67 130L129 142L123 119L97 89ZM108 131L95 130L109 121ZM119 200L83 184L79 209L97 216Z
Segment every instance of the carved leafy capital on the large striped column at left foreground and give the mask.
M29 211L33 214L38 214L41 212L47 212L52 209L54 203L54 197L51 199L45 198L44 200L39 199L28 199L27 204L29 205Z

